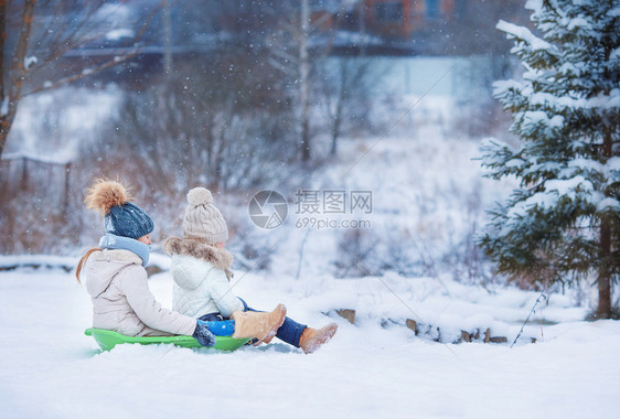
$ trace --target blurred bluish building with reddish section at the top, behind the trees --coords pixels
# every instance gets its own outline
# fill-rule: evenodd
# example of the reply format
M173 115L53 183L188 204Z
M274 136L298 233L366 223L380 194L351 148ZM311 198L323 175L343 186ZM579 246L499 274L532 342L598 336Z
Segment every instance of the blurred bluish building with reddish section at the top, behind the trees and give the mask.
M332 13L320 30L344 30L378 36L384 49L414 55L462 55L487 53L484 39L502 39L495 30L500 19L528 25L525 0L357 0L312 2L313 15ZM335 14L338 13L338 14ZM502 42L499 42L502 44ZM505 49L507 44L502 45Z

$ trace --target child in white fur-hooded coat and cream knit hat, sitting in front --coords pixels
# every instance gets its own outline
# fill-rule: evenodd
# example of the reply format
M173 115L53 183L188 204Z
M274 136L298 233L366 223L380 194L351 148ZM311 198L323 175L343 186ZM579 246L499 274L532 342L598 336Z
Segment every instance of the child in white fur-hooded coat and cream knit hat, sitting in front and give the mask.
M172 307L174 310L201 320L214 321L256 315L247 303L237 298L229 283L233 256L224 248L228 227L222 213L213 205L209 190L195 187L188 193L188 208L183 219L183 238L169 238L163 249L172 255L171 272L174 279ZM277 330L255 344L269 343L274 336L314 352L336 332L338 324L311 329L285 318Z

